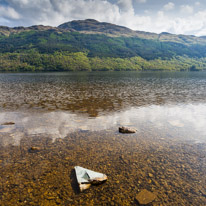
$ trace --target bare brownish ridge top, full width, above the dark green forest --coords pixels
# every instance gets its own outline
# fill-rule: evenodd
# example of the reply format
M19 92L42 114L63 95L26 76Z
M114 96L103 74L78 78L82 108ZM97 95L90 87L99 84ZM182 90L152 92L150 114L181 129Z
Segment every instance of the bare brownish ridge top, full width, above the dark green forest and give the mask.
M183 34L171 34L168 32L161 32L159 34L135 31L124 26L111 24L107 22L99 22L95 19L73 20L60 24L57 27L33 25L29 27L7 27L0 26L0 35L10 36L11 34L18 34L27 31L56 31L56 32L79 32L84 34L104 34L110 37L138 37L141 39L151 39L158 41L170 41L183 44L206 44L206 36L194 36Z

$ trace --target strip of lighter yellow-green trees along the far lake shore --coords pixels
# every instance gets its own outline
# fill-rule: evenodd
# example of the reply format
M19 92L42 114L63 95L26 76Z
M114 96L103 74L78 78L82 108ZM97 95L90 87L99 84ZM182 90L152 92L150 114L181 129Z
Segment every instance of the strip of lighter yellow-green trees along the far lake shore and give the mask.
M38 52L0 54L0 71L121 71L121 70L202 70L206 68L206 58L187 56L168 60L145 60L141 57L112 58L88 57L87 53Z

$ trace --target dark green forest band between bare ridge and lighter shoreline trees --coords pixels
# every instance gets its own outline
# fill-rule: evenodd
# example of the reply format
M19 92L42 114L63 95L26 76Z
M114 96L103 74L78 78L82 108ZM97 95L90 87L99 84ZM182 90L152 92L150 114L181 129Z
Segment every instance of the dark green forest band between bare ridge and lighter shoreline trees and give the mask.
M128 58L140 56L151 60L187 55L206 57L206 46L201 44L180 44L138 37L109 37L103 34L82 34L78 32L27 31L0 38L0 53L25 53L35 49L41 54L56 51L87 52L89 57Z

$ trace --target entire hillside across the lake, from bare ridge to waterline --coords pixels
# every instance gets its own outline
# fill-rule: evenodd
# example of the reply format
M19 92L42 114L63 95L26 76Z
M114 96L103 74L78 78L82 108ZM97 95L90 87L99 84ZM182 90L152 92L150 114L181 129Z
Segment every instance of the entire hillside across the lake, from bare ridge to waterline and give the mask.
M199 70L205 64L203 37L137 32L95 20L0 27L0 71Z

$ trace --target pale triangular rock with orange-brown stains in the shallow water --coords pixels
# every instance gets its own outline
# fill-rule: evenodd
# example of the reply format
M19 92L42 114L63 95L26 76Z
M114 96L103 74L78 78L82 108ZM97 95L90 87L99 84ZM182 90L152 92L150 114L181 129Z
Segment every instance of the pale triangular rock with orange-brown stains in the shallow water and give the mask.
M91 185L101 184L107 180L105 174L94 172L79 166L74 167L74 169L81 192L88 189Z

